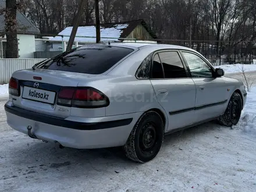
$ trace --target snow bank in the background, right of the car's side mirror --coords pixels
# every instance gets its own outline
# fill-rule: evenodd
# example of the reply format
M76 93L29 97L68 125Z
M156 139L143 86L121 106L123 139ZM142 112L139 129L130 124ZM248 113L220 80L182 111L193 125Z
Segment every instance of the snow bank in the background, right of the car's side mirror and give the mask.
M214 67L223 69L225 73L240 73L243 65L242 64L219 65L219 66L217 65ZM254 64L244 65L245 72L254 71L254 70L256 70L256 65L254 65Z

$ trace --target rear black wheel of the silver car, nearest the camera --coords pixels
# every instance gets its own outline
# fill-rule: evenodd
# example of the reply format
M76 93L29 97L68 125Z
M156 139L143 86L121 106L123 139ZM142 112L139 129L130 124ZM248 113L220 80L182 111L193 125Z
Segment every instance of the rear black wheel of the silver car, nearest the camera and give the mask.
M162 147L164 127L155 111L145 112L130 133L124 146L126 157L139 163L154 159Z

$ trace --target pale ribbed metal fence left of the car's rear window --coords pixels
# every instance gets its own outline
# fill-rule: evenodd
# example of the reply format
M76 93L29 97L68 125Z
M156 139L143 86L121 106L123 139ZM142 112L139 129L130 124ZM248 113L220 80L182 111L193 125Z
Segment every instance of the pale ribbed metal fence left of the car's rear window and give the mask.
M30 69L35 63L45 59L0 59L0 83L9 83L16 70Z

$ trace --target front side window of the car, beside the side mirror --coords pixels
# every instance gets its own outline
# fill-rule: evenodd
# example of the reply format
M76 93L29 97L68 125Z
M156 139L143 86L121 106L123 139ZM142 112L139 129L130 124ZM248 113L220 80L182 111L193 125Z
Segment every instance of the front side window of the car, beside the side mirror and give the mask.
M212 77L212 68L199 56L189 52L183 52L189 66L191 77Z

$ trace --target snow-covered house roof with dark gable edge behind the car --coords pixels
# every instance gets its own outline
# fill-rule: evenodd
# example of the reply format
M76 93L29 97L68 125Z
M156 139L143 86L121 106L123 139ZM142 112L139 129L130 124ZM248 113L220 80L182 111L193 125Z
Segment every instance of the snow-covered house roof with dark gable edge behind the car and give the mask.
M122 38L126 38L137 26L142 24L145 29L150 33L152 38L157 38L155 33L150 30L147 23L144 20L133 20L128 22L118 22L118 23L102 23L101 24L101 41L122 41ZM73 27L66 27L58 35L66 35L68 37L63 37L64 41L69 40ZM74 41L81 42L94 42L96 35L96 26L94 25L84 25L79 26L77 29L76 37ZM83 36L83 37L82 37ZM62 37L56 36L54 38L49 38L49 41L62 41Z

